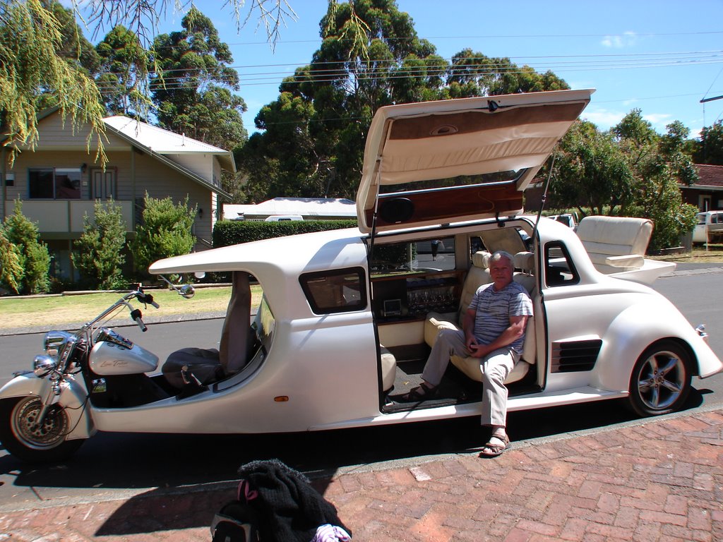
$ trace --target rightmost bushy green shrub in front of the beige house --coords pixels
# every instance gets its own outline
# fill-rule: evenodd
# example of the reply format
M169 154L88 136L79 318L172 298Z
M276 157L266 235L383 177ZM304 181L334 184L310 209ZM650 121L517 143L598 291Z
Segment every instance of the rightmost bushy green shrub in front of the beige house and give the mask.
M131 244L137 267L145 271L157 259L188 254L195 243L191 233L195 217L188 197L176 205L170 197L155 199L146 192L142 223Z

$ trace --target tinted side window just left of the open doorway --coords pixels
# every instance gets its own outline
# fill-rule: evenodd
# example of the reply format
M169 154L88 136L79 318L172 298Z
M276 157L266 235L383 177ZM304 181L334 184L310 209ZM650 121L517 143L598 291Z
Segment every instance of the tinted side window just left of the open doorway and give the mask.
M361 267L304 273L301 289L315 314L361 311L367 306L367 289Z

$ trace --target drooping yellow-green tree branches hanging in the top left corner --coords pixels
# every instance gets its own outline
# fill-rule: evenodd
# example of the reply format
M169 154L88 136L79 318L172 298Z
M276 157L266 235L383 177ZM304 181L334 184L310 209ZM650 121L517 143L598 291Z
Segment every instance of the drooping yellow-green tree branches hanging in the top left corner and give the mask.
M182 0L176 2L175 7L186 9L189 4L192 2ZM227 0L223 6L229 9L239 30L257 17L272 47L287 20L296 20L287 0L275 0L273 5L266 0L249 3ZM32 149L38 142L38 113L48 106L57 106L63 119L71 121L72 128L90 125L87 145L89 149L95 145L96 160L104 166L107 163L103 146L106 108L95 81L89 77L97 73L98 59L75 21L83 25L89 22L93 33L99 28L129 22L132 25L129 32L139 36L142 46L146 46L153 40L153 32L167 7L165 0L73 1L71 11L54 0L0 1L0 133L9 141ZM245 17L243 12L247 12ZM111 109L119 98L116 82L117 79L110 76L98 82L104 87L113 86L109 98ZM127 92L129 103L147 105L142 85L134 85ZM145 107L141 107L139 116L147 116ZM202 137L197 139L205 141ZM239 139L226 139L227 145L223 147L233 148L228 142L234 141Z

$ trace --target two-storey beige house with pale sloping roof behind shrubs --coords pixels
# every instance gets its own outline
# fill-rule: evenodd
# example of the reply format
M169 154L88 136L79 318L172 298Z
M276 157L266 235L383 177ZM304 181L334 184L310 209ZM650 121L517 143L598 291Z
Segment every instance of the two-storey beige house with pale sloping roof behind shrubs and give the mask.
M73 275L70 254L83 231L83 217L93 216L95 199L113 198L121 207L127 235L133 236L141 218L145 194L171 197L197 207L195 250L210 248L211 233L221 218L221 171L236 172L234 155L213 145L175 134L126 116L103 119L108 163L95 161L87 129L72 129L57 111L38 121L35 149L19 147L14 163L9 149L0 147L0 218L12 214L17 199L22 212L38 223L40 237L54 255L53 274ZM7 143L7 142L6 142Z

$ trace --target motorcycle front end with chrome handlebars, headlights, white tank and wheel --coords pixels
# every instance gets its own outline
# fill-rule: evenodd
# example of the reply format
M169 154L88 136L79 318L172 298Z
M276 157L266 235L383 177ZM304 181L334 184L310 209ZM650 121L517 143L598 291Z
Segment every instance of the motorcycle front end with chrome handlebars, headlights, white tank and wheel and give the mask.
M101 327L126 308L145 332L140 309L130 304L133 299L158 309L153 296L138 285L77 332L46 333L44 353L35 356L33 370L15 374L0 388L0 442L10 454L30 463L66 459L96 431L89 387L100 387L103 378L94 382L93 374L112 378L155 369L158 358L152 353ZM89 361L93 354L95 364L92 357Z

